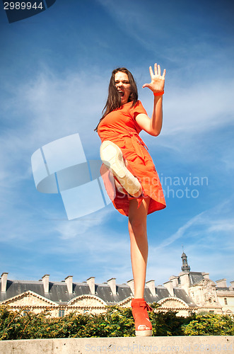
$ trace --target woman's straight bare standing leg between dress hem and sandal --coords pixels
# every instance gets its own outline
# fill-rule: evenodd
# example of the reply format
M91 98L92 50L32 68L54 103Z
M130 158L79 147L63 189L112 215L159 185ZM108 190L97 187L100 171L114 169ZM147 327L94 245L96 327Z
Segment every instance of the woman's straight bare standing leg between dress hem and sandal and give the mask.
M150 198L142 200L138 207L136 199L129 202L129 236L131 242L131 267L134 277L134 298L144 297L146 265L148 259L148 240L146 217Z

